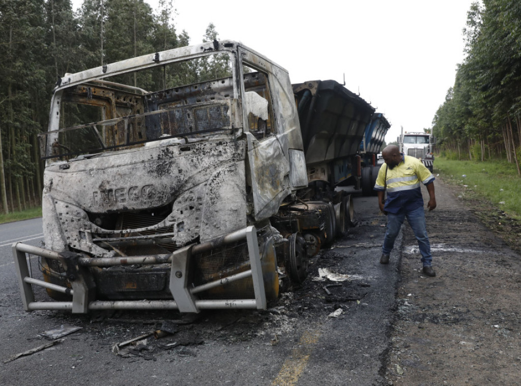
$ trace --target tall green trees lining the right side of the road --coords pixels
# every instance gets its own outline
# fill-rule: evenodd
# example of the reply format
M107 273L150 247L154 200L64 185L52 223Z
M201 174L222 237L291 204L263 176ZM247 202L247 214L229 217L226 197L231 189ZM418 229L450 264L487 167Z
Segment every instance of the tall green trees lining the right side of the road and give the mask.
M521 3L482 0L467 14L466 58L433 120L444 151L460 159L521 150ZM518 167L519 171L519 167Z

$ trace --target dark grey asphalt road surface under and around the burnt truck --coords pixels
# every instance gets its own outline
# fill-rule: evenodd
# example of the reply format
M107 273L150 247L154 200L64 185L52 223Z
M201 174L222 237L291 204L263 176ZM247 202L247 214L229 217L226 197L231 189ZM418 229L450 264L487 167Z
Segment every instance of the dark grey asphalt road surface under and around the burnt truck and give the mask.
M385 218L376 197L355 196L359 225L312 260L301 288L282 294L267 311L207 311L192 323L176 312L25 312L11 244L39 245L42 222L0 225L0 384L385 384L399 258L379 264ZM319 281L319 269L348 280ZM113 352L115 343L151 333L164 320L179 331L148 338L126 355ZM49 343L40 334L64 323L81 330L4 363Z

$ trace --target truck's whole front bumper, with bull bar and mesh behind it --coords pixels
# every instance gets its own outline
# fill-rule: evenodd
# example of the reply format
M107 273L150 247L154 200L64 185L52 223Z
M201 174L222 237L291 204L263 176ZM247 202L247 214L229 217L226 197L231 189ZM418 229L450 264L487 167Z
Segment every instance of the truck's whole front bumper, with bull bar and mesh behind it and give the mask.
M231 265L218 261L219 256L229 259L241 250L242 263L240 258ZM278 296L274 238L269 230L257 231L254 226L169 255L90 258L22 243L13 245L13 254L26 311L266 309L267 301ZM134 267L127 282L111 280L110 269L125 276L125 267ZM158 284L162 273L165 288ZM143 275L145 279L138 279Z

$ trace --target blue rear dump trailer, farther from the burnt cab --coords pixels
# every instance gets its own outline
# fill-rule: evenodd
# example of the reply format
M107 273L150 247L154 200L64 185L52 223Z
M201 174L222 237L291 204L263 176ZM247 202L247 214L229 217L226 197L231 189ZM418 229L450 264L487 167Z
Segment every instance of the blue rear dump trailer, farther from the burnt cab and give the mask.
M360 143L362 193L364 196L375 194L373 187L381 166L378 164L378 154L390 127L391 124L382 113L375 113L371 116L371 120L365 128L364 137Z

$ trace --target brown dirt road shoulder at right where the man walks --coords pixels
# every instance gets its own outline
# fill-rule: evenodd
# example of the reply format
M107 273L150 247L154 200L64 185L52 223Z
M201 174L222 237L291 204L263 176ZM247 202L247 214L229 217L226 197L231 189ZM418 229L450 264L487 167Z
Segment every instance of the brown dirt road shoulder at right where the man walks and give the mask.
M453 192L437 179L438 208L426 215L436 278L421 274L416 240L403 228L385 377L393 385L519 385L521 227L490 202L464 206Z

